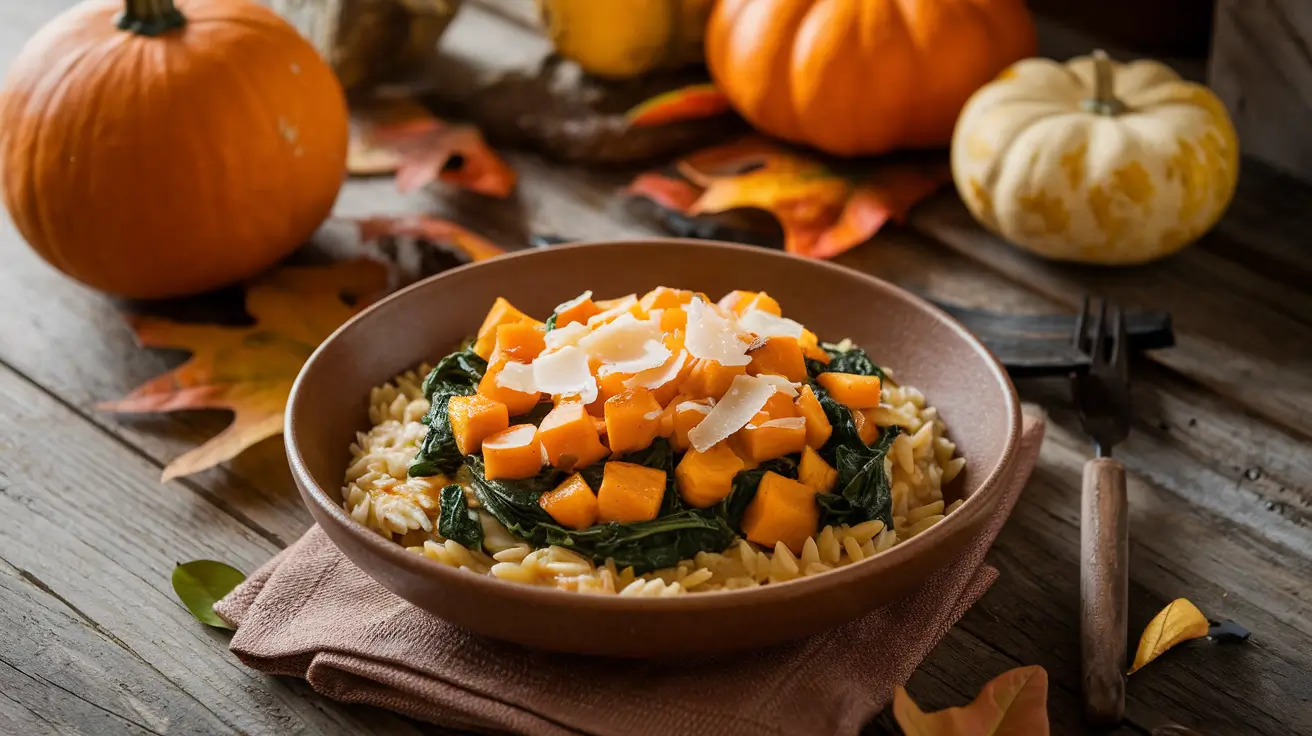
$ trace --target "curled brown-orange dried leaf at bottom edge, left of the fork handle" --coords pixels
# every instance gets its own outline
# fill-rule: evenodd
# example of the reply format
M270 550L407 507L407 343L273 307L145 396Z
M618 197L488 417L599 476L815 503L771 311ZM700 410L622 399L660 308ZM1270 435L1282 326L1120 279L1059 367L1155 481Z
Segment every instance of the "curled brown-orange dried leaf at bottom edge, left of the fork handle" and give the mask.
M907 736L1046 736L1048 673L1042 666L1004 672L971 705L929 714L899 686L893 718Z

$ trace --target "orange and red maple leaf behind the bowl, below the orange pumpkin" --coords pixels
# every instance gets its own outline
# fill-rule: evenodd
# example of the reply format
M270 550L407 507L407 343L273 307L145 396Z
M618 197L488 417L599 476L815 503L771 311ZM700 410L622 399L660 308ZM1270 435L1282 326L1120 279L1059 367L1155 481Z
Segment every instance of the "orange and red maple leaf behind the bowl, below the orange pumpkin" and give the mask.
M941 164L875 163L859 176L761 138L703 148L674 164L686 181L648 172L627 192L687 215L765 210L790 253L829 258L869 240L947 181ZM689 184L690 182L690 184Z

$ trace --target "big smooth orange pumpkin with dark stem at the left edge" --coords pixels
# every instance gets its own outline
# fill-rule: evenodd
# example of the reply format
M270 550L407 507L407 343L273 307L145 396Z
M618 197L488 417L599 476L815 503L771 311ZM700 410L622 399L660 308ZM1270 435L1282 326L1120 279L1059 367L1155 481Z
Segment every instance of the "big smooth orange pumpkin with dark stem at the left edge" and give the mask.
M290 253L346 161L332 71L248 0L89 0L22 49L0 98L4 202L96 289L193 294Z

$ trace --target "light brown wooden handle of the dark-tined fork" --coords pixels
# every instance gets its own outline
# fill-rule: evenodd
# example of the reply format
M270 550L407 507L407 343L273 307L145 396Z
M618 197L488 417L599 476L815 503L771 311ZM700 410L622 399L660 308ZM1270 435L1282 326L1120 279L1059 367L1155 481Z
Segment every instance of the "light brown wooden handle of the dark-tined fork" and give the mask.
M1085 716L1113 726L1126 710L1126 600L1130 525L1126 468L1111 458L1084 466L1080 520L1080 648Z

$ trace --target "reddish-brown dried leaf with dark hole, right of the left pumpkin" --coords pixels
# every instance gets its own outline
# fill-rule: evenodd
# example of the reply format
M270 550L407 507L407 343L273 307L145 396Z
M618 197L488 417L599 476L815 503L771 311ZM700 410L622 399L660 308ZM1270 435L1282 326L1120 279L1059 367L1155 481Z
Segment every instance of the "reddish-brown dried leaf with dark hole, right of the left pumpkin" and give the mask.
M353 176L396 173L405 193L442 180L491 197L508 197L516 173L474 126L447 125L426 108L395 101L356 121L346 152Z

